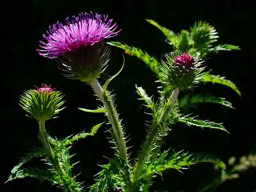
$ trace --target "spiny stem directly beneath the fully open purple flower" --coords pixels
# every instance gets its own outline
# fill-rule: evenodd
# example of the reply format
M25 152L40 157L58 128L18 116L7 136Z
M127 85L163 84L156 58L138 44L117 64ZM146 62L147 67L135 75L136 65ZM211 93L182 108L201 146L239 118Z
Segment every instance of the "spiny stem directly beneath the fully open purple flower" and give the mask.
M115 141L118 147L118 152L120 153L120 156L122 157L122 159L124 159L128 163L127 148L125 146L124 133L122 131L120 121L118 120L118 116L117 116L113 101L109 99L110 95L108 95L108 92L106 90L103 90L102 86L100 86L97 79L94 79L92 81L91 86L94 92L99 97L100 101L104 104L104 107L106 109L106 112L109 118L109 122L111 123L113 132L115 134Z

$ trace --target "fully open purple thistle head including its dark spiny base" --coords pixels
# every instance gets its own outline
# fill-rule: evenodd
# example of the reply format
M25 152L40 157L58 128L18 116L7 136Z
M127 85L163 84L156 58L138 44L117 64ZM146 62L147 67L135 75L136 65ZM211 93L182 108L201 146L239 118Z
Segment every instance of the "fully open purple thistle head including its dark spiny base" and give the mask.
M57 58L66 77L92 81L104 70L110 51L104 40L118 35L117 25L108 15L80 13L66 24L49 26L37 51L41 56Z

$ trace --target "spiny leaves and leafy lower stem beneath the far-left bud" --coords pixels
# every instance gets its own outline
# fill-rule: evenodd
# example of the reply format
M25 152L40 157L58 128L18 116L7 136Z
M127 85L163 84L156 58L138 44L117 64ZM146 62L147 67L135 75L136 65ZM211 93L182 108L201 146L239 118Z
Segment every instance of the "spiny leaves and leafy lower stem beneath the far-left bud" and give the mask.
M97 124L92 127L92 131L81 132L74 136L69 136L64 140L54 139L51 136L47 136L47 139L52 145L53 158L48 156L46 148L38 148L37 150L29 153L23 157L20 162L13 167L8 181L14 179L23 179L24 177L33 177L41 182L44 180L50 181L52 184L56 184L58 187L63 188L65 191L82 191L81 183L76 182L76 175L72 176L72 168L77 163L71 163L70 158L74 155L69 154L70 145L72 142L87 136L93 136L99 127L102 125ZM45 163L45 170L38 170L38 168L26 168L26 163L33 158L38 158ZM54 161L54 162L52 162Z

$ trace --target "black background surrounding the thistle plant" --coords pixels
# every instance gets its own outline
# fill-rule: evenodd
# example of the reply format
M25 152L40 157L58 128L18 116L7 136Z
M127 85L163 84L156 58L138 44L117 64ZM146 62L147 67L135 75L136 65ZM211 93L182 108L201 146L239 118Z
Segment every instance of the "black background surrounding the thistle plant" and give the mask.
M174 150L184 148L189 152L204 152L219 157L227 162L228 157L240 157L255 148L255 127L253 125L255 112L253 99L255 89L255 54L254 29L255 12L249 1L235 3L234 1L86 1L86 0L34 0L6 1L2 6L3 36L1 47L2 82L1 87L1 176L3 182L8 179L10 170L18 163L19 158L29 149L40 145L37 140L38 125L36 121L25 116L18 106L19 95L41 83L52 84L65 93L67 100L60 117L47 122L47 131L52 136L64 138L70 134L83 131L103 122L102 114L90 114L79 111L77 107L94 109L99 104L95 100L90 87L74 80L65 79L56 68L53 60L38 56L35 49L38 41L48 26L57 20L64 21L67 16L79 12L107 13L115 19L120 35L111 40L125 42L146 50L160 58L164 52L172 51L166 44L165 37L145 19L152 19L179 32L189 29L196 20L205 20L219 32L219 44L239 45L241 51L220 52L209 55L211 60L206 63L213 69L212 74L220 74L237 84L242 98L230 88L221 85L206 84L195 90L196 93L214 93L227 98L234 104L234 109L228 109L217 104L200 104L191 110L201 118L209 118L223 122L227 134L218 130L187 127L177 124L166 140L166 148ZM106 74L101 81L117 72L122 65L122 50L111 47L111 61ZM133 146L131 157L136 157L141 143L145 139L144 108L135 93L135 84L143 86L149 95L157 97L155 76L150 69L135 57L125 55L125 68L115 80L109 84L109 90L116 94L116 105L120 118L123 119L125 132L130 134L128 145ZM189 112L191 112L189 111ZM104 125L96 136L77 141L72 153L77 153L74 161L81 160L74 172L82 174L79 181L85 181L86 186L93 184L93 175L99 172L97 164L105 164L112 157L111 145L106 139L107 125ZM202 180L214 177L212 164L192 166L184 173L168 171L156 178L152 191L195 191ZM240 179L221 185L217 191L248 191L256 190L255 170L241 175ZM2 183L3 183L2 182ZM60 191L48 182L40 184L35 179L15 180L3 185L1 191Z

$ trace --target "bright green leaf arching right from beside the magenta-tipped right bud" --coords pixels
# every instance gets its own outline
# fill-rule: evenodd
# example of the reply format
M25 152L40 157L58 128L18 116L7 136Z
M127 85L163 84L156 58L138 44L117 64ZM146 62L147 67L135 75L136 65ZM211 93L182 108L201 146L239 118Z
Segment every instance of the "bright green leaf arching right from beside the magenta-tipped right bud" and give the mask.
M241 92L239 92L236 84L232 83L232 81L225 79L225 77L214 76L214 75L209 74L209 72L207 72L207 73L205 73L202 81L211 82L213 84L218 83L218 84L223 84L225 86L229 86L230 88L232 88L232 90L234 90L241 97Z

